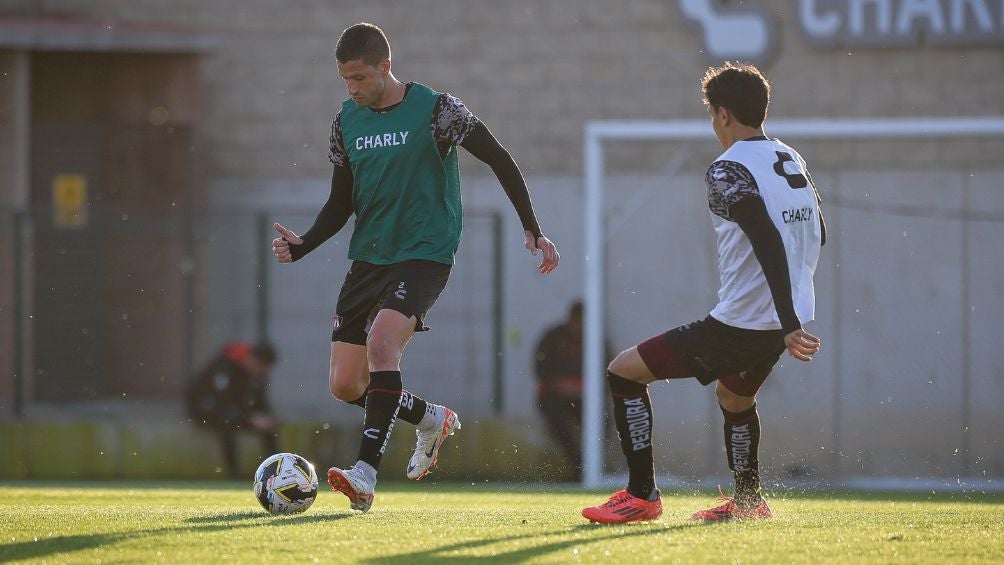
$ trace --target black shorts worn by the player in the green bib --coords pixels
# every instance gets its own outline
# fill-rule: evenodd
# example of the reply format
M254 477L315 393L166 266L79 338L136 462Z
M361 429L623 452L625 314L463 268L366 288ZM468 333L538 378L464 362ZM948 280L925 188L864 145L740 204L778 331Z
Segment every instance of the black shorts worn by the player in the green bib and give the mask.
M453 267L435 261L373 265L353 261L334 307L331 341L365 345L376 312L389 309L412 317L426 331L426 314L446 288Z

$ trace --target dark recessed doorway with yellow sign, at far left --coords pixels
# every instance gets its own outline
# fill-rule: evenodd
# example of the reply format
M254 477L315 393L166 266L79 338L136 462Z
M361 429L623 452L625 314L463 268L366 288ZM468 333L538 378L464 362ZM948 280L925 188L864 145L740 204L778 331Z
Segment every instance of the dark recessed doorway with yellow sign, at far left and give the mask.
M163 397L190 357L192 55L32 56L35 397Z

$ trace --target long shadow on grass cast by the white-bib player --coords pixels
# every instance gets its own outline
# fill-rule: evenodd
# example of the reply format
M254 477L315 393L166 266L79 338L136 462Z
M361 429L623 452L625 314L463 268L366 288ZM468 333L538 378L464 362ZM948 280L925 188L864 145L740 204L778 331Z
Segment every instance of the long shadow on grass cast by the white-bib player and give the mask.
M640 536L655 536L666 532L687 530L697 526L699 526L699 524L663 526L658 522L644 523L644 524L624 524L617 526L582 524L571 528L548 530L532 535L521 534L521 535L503 536L498 538L469 540L466 542L440 546L432 549L413 551L410 553L400 553L398 555L387 556L387 557L375 557L371 559L364 559L361 560L360 562L371 563L375 565L385 565L385 564L390 565L398 563L443 563L451 561L467 563L473 560L480 560L480 559L492 559L503 562L519 562L519 561L526 561L534 557L542 557L547 554L553 553L555 551L569 549L576 546L582 547L605 540L623 539L623 538L632 538ZM588 538L572 537L571 539L561 539L548 543L534 543L537 540L539 540L540 542L546 542L547 538L553 538L553 537L566 538L567 536L574 536L575 534L580 532L591 533L595 532L596 530L604 530L604 529L609 530L609 533L599 536L591 536ZM633 531L625 532L624 531L625 529L630 529ZM475 549L479 547L487 547L498 543L512 542L517 540L526 541L528 543L534 543L534 545L532 545L531 547L513 549L511 551L496 552L493 553L491 556L451 555L451 553L456 551L461 551L465 549ZM556 556L554 557L556 558Z

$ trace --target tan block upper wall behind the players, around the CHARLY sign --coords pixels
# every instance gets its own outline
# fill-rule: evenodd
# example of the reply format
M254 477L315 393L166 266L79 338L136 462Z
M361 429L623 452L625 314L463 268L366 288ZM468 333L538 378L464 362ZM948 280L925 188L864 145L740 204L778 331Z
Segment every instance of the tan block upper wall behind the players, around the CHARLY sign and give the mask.
M811 48L798 4L755 3L777 22L778 55L764 67L776 87L772 115L1004 112L999 46ZM344 98L334 43L358 21L387 31L399 78L459 95L537 174L579 174L584 119L705 115L698 83L709 62L706 45L669 0L302 0L281 9L268 0L47 0L6 2L0 13L181 26L220 36L223 48L203 68L204 128L217 178L327 175L328 126ZM845 160L854 151L848 148L832 159ZM1002 153L999 143L991 149ZM649 165L665 161L656 150L631 151ZM868 155L874 152L852 157ZM915 156L923 159L923 152L904 155L886 146L876 157ZM953 161L973 158L960 150Z

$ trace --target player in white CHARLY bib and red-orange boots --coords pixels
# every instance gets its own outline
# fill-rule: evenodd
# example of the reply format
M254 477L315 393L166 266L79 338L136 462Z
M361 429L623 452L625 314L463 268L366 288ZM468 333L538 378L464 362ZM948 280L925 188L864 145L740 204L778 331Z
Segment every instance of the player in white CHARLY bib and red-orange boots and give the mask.
M760 490L756 393L781 353L810 361L819 338L812 276L825 224L805 161L763 130L770 84L750 64L709 68L702 81L715 135L725 148L705 182L718 240L718 304L703 320L657 335L607 367L629 483L606 503L582 510L592 522L655 520L663 513L655 480L649 383L694 377L715 382L725 416L726 454L735 496L696 512L696 520L770 518Z

